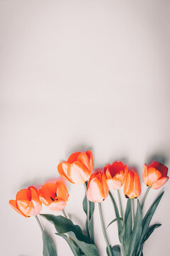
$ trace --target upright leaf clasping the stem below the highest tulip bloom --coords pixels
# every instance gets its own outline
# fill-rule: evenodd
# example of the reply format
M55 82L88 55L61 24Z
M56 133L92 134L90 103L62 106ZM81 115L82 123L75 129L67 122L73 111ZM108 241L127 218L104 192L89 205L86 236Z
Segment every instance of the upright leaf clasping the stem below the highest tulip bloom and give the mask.
M86 213L86 216L88 215L88 203L89 203L89 220L86 218L86 230L89 235L89 238L91 239L91 242L94 243L94 203L93 202L88 202L88 199L86 198L86 194L84 196L84 201L83 201L83 208L84 212Z

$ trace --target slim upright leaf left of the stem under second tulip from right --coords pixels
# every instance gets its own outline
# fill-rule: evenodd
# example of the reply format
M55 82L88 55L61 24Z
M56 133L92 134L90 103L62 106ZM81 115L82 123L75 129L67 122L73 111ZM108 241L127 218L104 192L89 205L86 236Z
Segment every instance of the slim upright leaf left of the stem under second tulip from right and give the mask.
M128 250L131 233L132 233L132 214L131 214L131 203L129 198L127 201L126 210L125 210L125 251Z

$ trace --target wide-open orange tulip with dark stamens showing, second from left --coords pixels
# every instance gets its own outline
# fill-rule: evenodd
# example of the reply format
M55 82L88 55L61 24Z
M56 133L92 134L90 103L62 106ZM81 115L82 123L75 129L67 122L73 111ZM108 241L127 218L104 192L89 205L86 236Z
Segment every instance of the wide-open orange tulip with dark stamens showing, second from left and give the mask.
M45 183L39 189L40 201L50 210L62 210L68 201L69 193L64 182Z

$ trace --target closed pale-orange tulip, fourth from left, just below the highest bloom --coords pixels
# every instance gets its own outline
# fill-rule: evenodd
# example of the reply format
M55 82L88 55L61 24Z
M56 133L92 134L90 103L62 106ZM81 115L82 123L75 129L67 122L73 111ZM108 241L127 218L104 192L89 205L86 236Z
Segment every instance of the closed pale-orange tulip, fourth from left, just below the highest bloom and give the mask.
M87 186L86 197L91 202L102 202L108 196L106 175L102 171L91 174Z

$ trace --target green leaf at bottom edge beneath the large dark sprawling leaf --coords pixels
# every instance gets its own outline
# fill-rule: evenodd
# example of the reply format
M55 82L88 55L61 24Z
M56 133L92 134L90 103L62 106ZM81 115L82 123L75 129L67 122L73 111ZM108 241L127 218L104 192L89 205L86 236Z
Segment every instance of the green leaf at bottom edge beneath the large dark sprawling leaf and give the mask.
M77 236L72 231L67 232L67 235L69 235L69 237L72 238L74 242L77 243L77 245L79 245L79 248L81 249L81 254L79 255L82 255L82 253L84 253L84 255L86 256L99 256L98 250L95 245L78 240Z

